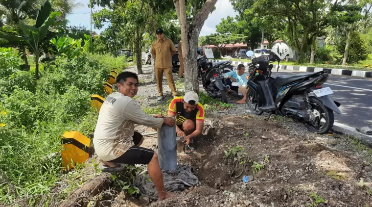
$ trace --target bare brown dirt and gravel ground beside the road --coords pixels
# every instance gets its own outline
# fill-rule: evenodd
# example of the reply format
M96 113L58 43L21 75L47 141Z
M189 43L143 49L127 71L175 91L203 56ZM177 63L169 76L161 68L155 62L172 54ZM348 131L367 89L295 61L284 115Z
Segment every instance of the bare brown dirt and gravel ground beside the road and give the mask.
M136 72L135 67L128 70ZM143 71L137 102L142 108L164 107L166 101L156 101L149 67ZM175 81L181 89L181 81ZM170 99L165 78L163 88ZM236 98L229 100L233 103ZM172 199L150 203L151 207L372 206L371 149L337 132L309 133L289 119L272 116L266 122L265 117L247 115L245 110L245 105L236 104L206 110L211 126L197 140L196 152L178 153L178 162L193 167L199 184ZM136 130L154 131L143 126ZM157 151L157 137L146 136L142 146ZM244 184L244 175L252 175L254 181ZM358 186L361 179L363 187ZM145 206L122 194L109 206Z

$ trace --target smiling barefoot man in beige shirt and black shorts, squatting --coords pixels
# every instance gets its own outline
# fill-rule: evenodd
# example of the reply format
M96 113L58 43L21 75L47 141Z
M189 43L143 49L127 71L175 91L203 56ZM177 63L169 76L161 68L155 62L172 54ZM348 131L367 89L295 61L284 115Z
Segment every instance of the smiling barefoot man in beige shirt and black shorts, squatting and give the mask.
M122 171L123 164L147 164L148 173L154 182L159 200L171 197L164 189L162 170L158 155L142 148L143 136L134 131L135 124L161 128L173 126L175 121L162 115L148 116L132 99L138 91L138 77L132 72L123 72L116 77L117 92L110 94L102 104L94 130L94 150L103 165L102 171ZM122 163L122 164L121 164Z

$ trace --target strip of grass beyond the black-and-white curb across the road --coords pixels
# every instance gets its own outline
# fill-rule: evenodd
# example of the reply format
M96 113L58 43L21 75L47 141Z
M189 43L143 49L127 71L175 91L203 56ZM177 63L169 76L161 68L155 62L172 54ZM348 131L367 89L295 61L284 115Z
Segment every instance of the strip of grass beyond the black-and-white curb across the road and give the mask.
M226 60L226 59L216 59L216 60ZM240 61L240 62L251 62L250 59L235 59L232 58L231 61ZM274 62L273 64L278 64L278 62ZM372 67L365 67L367 64L372 65L372 54L368 55L366 60L360 61L359 63L354 63L349 66L343 65L330 65L324 63L298 63L298 62L280 62L280 65L294 65L294 66L305 66L305 67L316 67L316 68L331 68L331 69L344 69L344 70L359 70L359 71L372 71Z

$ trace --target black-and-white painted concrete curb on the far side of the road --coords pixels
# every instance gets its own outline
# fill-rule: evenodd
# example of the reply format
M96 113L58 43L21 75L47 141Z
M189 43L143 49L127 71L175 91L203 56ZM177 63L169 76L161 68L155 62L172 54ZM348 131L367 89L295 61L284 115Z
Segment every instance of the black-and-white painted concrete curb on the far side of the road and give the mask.
M223 60L212 60L212 62L221 62ZM248 66L248 62L232 61L233 65L243 64ZM277 65L274 65L276 68ZM372 78L372 72L370 71L354 71L345 69L335 69L335 68L315 68L306 66L293 66L293 65L279 65L279 69L282 70L292 70L292 71L303 71L303 72L319 72L324 71L327 74L342 75L342 76L353 76L361 78Z

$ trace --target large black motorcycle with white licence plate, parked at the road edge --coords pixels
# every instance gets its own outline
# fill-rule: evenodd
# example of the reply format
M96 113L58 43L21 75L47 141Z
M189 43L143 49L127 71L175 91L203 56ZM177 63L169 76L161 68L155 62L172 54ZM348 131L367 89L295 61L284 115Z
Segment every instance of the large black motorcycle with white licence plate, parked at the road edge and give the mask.
M341 114L340 103L329 96L332 90L322 87L329 75L321 71L272 78L270 63L276 61L279 65L280 58L274 52L252 59L249 69L254 73L248 80L246 100L249 109L256 115L269 113L267 120L273 112L292 117L312 132L326 133L334 123L333 111Z

